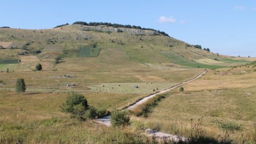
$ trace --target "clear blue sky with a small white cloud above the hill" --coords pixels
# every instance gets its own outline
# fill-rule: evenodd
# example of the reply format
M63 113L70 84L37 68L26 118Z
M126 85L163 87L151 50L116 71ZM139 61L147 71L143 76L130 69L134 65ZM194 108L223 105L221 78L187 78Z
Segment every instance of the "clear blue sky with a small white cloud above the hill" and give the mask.
M0 27L48 29L75 21L161 30L212 52L256 57L255 0L1 2Z

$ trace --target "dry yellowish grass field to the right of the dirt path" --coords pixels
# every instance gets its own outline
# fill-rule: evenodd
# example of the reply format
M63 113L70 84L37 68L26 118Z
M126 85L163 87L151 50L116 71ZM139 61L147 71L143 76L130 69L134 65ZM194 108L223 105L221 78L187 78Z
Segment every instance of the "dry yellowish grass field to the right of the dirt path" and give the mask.
M250 79L253 72L242 75L243 78L236 75L236 69L227 71L225 76L214 74L216 72L206 73L187 83L183 86L183 93L178 92L178 89L167 93L164 101L151 109L148 118L132 119L152 129L190 137L191 128L194 134L194 126L203 117L199 131L203 131L204 136L218 141L226 137L235 143L255 143L256 83Z

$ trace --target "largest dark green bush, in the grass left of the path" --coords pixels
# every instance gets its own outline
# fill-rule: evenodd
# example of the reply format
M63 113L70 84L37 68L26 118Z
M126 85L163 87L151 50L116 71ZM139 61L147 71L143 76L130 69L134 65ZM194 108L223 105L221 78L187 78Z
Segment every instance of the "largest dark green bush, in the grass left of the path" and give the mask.
M83 115L88 110L89 105L82 94L68 93L65 103L61 106L61 112L75 115Z

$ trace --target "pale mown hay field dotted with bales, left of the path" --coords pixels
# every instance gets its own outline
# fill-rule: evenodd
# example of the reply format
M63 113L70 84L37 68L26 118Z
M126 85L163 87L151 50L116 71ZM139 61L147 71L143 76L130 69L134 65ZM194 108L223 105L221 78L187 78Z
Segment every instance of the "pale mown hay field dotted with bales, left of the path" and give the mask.
M88 86L90 92L106 93L151 93L161 91L176 85L174 82L122 82L122 83L101 83L99 85ZM135 88L135 87L138 88Z

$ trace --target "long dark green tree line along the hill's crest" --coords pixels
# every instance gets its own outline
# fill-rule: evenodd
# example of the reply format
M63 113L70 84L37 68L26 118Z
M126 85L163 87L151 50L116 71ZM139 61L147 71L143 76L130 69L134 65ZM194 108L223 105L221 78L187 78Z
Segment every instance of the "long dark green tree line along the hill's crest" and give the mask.
M121 25L118 23L110 23L110 22L84 22L84 21L76 21L74 22L72 25L84 25L84 26L107 26L107 27L114 27L114 28L129 28L129 29L140 29L140 30L152 30L158 33L161 33L167 37L169 37L169 35L167 33L165 33L164 31L159 31L159 30L155 30L155 29L151 29L151 28L142 28L141 26L131 26L131 25Z

